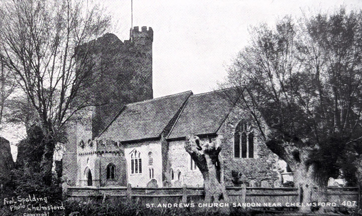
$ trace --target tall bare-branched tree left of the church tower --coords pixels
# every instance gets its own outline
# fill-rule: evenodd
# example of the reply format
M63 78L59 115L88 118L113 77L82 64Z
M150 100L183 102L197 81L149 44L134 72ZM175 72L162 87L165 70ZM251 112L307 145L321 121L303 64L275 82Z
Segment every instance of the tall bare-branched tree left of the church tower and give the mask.
M41 172L50 184L54 146L65 123L91 105L78 97L93 71L92 58L79 47L104 34L110 18L77 0L14 0L0 12L1 56L36 110L45 137Z

